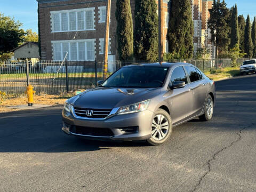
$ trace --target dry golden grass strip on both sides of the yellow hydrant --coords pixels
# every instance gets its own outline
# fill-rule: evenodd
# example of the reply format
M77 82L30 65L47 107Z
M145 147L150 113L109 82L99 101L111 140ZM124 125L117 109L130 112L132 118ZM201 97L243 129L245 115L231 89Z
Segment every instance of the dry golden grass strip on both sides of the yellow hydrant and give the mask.
M43 105L63 105L63 103L69 99L70 97L73 97L73 94L65 94L65 95L34 95L34 103L36 104L43 104ZM20 95L20 97L16 98L6 98L1 104L0 104L0 113L6 113L9 111L18 111L20 109L10 109L7 107L10 106L19 106L19 105L26 105L27 104L27 96L26 95Z

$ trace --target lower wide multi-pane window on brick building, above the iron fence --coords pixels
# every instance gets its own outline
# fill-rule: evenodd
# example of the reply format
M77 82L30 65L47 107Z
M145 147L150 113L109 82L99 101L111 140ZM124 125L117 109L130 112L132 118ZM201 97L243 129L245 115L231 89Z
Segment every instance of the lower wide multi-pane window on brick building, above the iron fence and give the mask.
M53 59L61 61L67 54L68 61L94 60L95 59L95 39L81 39L71 41L52 41Z

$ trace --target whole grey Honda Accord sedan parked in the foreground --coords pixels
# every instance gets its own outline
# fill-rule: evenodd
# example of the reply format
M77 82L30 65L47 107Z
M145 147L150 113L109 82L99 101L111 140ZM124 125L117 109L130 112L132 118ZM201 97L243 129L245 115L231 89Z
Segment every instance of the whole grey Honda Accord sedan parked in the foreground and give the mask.
M188 63L125 66L99 83L65 102L62 131L159 145L173 126L213 116L214 82Z

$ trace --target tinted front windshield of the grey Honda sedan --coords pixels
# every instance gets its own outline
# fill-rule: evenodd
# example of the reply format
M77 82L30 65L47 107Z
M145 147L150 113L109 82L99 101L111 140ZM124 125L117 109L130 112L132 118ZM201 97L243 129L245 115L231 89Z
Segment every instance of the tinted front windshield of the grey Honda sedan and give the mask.
M167 71L167 67L124 67L111 75L101 86L124 88L161 87Z

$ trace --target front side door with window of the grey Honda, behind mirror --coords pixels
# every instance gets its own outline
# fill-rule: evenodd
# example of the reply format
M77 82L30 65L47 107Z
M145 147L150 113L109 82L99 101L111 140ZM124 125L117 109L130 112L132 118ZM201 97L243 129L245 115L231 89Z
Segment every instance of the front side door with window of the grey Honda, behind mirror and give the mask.
M172 110L173 124L188 119L193 110L193 92L188 85L188 79L182 66L175 68L171 74L171 83L176 81L185 82L185 87L169 91L169 104Z

